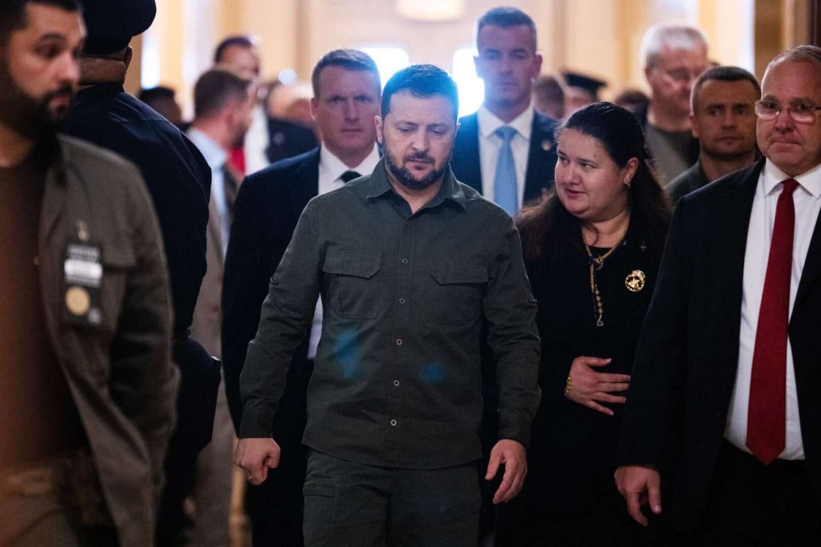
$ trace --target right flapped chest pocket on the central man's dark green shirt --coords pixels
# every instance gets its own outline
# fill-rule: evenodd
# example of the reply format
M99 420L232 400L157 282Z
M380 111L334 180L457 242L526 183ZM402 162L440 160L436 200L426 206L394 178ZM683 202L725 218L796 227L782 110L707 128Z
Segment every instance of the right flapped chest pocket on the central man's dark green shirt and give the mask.
M482 291L488 282L483 264L441 258L430 261L429 317L432 323L462 325L482 311Z

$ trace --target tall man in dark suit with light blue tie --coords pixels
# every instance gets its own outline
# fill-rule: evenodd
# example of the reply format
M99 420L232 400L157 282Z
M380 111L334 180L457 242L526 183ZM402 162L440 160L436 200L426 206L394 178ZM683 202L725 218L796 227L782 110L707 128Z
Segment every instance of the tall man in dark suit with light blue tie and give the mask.
M451 168L458 180L514 215L553 184L556 122L530 105L542 68L530 16L515 7L494 7L476 28L484 103L460 118Z

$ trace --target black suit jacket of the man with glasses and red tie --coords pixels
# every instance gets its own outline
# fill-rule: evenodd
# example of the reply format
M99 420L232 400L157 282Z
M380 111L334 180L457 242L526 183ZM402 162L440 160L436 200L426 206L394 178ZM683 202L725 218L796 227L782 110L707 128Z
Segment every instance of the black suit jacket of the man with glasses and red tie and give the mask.
M699 520L722 444L738 362L747 228L763 166L761 160L679 200L636 353L619 463L662 469L663 481L672 481L666 507L683 530ZM789 327L801 436L821 499L819 274L821 221Z

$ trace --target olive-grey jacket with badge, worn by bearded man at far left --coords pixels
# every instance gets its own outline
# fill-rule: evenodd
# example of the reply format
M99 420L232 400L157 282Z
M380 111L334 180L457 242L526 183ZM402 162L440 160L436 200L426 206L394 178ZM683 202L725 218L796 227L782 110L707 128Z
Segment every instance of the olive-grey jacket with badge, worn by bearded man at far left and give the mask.
M86 239L102 251L95 326L66 320L69 239ZM48 335L120 545L152 545L179 375L171 361L163 243L140 171L101 148L59 137L40 214L39 263Z

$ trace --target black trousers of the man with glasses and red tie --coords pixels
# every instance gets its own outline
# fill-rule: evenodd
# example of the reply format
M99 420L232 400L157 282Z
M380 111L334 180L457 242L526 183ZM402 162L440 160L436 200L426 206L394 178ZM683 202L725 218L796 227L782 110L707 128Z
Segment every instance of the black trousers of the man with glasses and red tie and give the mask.
M821 504L803 461L765 466L724 441L689 545L821 545Z

